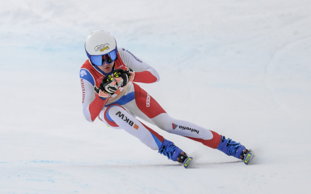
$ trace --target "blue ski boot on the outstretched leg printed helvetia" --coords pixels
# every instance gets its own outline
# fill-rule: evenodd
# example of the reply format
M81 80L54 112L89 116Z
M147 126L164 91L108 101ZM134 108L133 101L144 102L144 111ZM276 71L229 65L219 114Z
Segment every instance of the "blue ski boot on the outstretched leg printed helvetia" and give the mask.
M234 156L241 160L244 160L244 157L251 152L251 150L247 150L241 143L237 143L230 138L226 139L225 136L221 136L220 143L216 149L228 156Z

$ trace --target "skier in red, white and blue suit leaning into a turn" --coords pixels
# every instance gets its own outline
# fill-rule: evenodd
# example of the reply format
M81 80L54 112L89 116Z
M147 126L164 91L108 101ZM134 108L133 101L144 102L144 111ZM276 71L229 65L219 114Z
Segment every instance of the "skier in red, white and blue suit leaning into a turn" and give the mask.
M88 60L81 66L80 80L86 120L93 122L98 118L112 128L124 129L151 149L181 163L190 162L192 158L136 117L229 156L243 160L245 155L251 154L250 150L230 138L170 117L135 83L158 82L159 74L130 51L117 47L110 33L104 30L92 32L86 38L85 50Z

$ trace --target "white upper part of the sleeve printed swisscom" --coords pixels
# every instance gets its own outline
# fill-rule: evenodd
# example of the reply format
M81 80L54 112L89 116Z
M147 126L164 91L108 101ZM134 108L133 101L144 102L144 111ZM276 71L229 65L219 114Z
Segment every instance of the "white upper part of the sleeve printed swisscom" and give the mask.
M125 48L118 48L118 52L121 60L128 68L132 69L135 72L149 71L152 75L156 77L156 82L160 80L160 75L158 74L158 72L153 67L135 56L133 53L129 52Z

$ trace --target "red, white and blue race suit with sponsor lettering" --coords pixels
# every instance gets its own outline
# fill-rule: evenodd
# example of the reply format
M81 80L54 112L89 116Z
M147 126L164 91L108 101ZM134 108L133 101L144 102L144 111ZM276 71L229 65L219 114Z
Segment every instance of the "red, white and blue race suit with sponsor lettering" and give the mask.
M81 66L82 107L86 120L93 122L98 117L110 127L124 129L153 150L161 147L163 137L136 117L169 133L193 139L208 147L215 149L219 145L221 135L188 121L170 117L153 97L134 83L154 83L159 81L160 77L150 65L128 50L118 48L113 70L127 70L127 67L135 72L133 81L122 88L119 87L104 106L104 100L95 93L94 86L99 87L107 73L92 65L89 60Z

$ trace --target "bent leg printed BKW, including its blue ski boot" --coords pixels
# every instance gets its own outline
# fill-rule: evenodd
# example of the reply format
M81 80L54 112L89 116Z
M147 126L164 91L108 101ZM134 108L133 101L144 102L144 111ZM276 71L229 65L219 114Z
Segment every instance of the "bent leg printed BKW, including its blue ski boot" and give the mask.
M161 135L147 127L145 124L137 120L133 115L129 114L122 106L118 104L110 105L101 115L107 124L112 127L120 127L131 135L137 137L142 143L153 150L159 150L159 153L167 156L173 161L183 162L180 155L183 151L164 139Z

